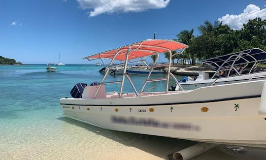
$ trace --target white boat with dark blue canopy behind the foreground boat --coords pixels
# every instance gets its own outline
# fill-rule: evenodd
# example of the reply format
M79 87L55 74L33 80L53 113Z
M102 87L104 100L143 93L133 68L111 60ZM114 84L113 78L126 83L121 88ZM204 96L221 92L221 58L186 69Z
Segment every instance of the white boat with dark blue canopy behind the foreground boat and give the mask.
M259 48L248 49L220 57L202 61L203 64L216 68L211 78L207 72L199 72L197 79L185 77L180 79L180 85L184 90L194 90L210 85L223 85L246 81L266 79L266 71L255 71L258 64L266 63L266 52ZM225 74L218 76L219 72ZM184 81L183 81L184 80ZM171 90L179 90L172 87Z

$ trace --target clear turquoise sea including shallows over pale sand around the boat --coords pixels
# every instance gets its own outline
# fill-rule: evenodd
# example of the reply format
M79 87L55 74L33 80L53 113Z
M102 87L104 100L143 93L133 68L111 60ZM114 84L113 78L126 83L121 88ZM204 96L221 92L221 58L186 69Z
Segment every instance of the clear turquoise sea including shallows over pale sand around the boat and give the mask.
M100 81L101 67L95 65L57 66L46 72L46 65L0 65L0 160L161 160L195 142L166 137L106 130L78 122L63 115L59 100L70 97L76 83ZM107 81L120 80L110 76ZM180 77L177 77L180 78ZM143 76L132 76L140 90ZM155 88L156 87L156 88ZM159 91L165 82L146 88ZM119 86L106 86L107 92ZM125 92L132 92L126 83ZM241 150L241 149L240 149ZM263 160L265 150L217 147L195 160L223 160L256 156ZM217 157L219 155L219 157ZM220 159L221 158L221 159Z

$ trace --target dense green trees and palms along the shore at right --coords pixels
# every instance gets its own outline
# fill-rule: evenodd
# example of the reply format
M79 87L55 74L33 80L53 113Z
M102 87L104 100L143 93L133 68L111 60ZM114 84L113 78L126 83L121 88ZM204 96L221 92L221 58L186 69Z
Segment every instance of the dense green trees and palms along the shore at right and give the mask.
M187 59L190 64L195 65L196 59L204 60L213 57L226 55L251 48L261 48L266 51L266 20L256 18L243 24L241 30L232 30L223 22L205 21L204 25L198 27L201 35L195 36L194 29L184 30L178 33L177 39L181 43L187 44L183 54L172 57L175 59ZM169 54L165 53L168 59ZM152 57L152 59L154 59Z

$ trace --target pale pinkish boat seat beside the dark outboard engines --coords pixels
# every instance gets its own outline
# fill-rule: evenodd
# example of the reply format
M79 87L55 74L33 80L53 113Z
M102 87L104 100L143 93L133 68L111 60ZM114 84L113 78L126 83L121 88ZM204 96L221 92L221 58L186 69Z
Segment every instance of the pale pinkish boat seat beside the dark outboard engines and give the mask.
M82 93L82 98L93 98L99 86L86 86ZM96 98L106 98L105 86L102 85Z

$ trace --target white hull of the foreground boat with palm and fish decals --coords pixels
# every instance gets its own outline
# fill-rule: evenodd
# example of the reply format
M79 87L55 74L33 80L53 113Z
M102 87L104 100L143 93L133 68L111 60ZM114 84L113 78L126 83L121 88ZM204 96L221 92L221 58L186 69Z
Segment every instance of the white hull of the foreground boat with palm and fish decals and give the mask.
M265 83L140 97L61 98L60 103L66 116L100 128L266 148Z

